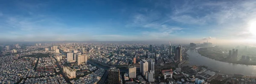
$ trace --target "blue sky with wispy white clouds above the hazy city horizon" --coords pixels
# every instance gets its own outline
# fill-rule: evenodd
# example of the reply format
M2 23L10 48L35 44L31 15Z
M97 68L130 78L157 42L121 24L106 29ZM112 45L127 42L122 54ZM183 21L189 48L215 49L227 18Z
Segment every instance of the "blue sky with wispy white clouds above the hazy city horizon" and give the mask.
M1 41L256 39L256 0L1 0ZM256 23L255 23L256 24Z

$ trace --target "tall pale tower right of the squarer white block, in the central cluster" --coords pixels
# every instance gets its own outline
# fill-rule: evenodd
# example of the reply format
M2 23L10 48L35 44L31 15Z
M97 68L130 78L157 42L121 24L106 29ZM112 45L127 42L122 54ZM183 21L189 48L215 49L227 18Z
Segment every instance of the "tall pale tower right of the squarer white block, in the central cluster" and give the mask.
M144 59L140 60L140 73L145 76L146 71L148 71L148 62Z

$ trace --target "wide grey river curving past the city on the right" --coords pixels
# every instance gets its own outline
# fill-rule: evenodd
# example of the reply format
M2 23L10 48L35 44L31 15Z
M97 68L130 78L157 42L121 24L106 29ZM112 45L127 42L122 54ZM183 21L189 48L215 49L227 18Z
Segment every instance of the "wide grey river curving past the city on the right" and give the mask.
M189 65L204 65L228 74L240 73L247 76L256 76L256 65L241 65L220 62L201 56L201 54L196 53L195 50L188 50L187 54L189 55Z

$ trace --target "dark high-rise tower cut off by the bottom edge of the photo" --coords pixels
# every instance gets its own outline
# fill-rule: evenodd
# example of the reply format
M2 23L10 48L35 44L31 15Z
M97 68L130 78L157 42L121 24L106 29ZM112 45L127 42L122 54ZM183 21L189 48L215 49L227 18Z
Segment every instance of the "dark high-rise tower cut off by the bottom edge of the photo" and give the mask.
M120 84L120 70L112 67L108 70L108 84Z

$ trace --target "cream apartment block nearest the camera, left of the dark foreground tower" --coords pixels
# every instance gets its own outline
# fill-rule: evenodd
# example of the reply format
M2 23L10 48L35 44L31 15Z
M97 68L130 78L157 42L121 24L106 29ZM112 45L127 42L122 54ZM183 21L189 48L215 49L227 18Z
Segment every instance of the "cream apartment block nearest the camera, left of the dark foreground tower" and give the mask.
M63 72L69 79L76 78L76 70L73 70L68 66L63 66Z

